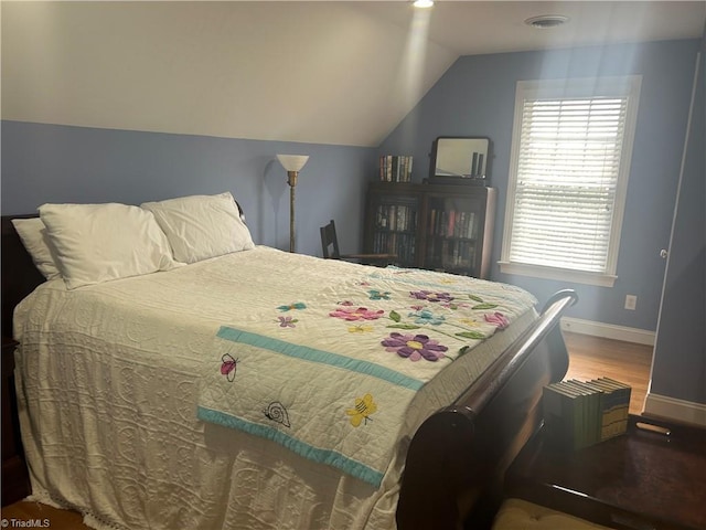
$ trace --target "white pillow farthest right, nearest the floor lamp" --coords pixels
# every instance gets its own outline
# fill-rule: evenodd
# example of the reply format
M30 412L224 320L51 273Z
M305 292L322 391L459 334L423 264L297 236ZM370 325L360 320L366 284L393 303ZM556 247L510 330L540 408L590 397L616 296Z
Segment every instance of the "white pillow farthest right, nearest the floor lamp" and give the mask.
M255 248L229 192L146 202L141 206L154 214L178 262L194 263Z

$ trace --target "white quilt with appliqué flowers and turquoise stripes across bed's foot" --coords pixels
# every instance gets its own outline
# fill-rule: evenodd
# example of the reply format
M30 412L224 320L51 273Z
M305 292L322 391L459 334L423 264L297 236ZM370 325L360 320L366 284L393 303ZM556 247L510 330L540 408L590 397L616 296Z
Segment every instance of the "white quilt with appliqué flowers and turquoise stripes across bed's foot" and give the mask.
M355 267L298 299L224 324L197 416L275 441L378 486L430 412L418 392L536 300L510 285Z

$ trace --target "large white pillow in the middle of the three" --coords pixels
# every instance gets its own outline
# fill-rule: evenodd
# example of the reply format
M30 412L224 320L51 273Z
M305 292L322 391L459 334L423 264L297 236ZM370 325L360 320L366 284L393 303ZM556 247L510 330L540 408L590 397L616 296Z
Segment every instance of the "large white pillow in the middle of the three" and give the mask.
M176 265L154 216L141 208L43 204L40 218L69 289Z

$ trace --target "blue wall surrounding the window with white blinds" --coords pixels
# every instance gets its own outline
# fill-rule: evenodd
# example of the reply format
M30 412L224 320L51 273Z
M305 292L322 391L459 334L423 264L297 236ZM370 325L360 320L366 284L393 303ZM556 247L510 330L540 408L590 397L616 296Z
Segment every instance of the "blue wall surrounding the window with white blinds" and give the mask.
M571 316L618 326L656 329L674 201L686 131L698 40L613 45L548 52L460 57L381 146L381 153L415 157L413 180L427 177L438 136L486 136L493 145L491 186L499 190L492 279L523 286L541 300L574 287ZM641 74L628 200L613 288L507 276L500 273L505 194L510 168L515 85L521 80ZM623 308L638 296L634 311Z

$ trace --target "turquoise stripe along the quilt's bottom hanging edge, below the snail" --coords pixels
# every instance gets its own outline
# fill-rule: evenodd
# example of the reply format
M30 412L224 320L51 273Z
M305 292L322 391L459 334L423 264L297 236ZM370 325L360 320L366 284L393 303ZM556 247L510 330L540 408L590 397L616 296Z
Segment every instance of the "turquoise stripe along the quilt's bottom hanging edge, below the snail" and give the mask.
M206 422L216 423L225 427L238 428L240 431L245 431L246 433L268 438L272 442L277 442L288 449L293 451L298 455L301 455L320 464L334 466L349 475L372 484L375 487L379 487L379 484L383 481L383 474L366 466L365 464L353 460L352 458L343 456L341 453L338 453L335 451L321 449L319 447L306 444L297 438L288 436L277 428L247 422L243 418L232 416L224 412L206 409L201 405L197 407L196 415L200 420Z

